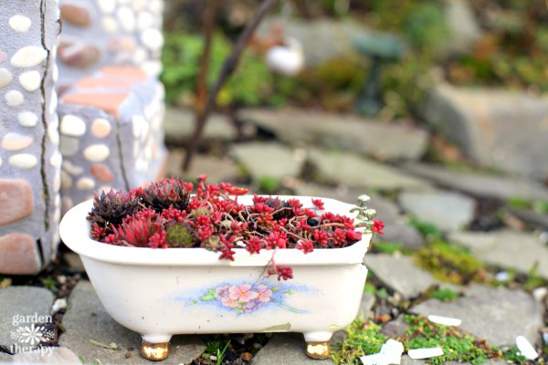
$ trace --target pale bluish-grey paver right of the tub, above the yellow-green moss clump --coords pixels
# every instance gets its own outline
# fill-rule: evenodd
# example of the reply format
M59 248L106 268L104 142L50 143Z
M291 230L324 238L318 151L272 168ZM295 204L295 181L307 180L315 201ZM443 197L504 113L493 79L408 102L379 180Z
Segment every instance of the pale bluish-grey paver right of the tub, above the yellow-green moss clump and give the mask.
M476 202L468 196L447 191L403 192L398 202L417 220L442 231L456 231L469 224L476 208Z

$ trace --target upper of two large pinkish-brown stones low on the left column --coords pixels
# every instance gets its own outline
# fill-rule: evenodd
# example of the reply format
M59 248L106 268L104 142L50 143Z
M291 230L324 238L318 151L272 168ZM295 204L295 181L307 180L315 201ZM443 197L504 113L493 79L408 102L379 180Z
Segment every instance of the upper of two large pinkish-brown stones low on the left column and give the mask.
M0 226L26 218L34 211L30 184L22 179L0 179Z

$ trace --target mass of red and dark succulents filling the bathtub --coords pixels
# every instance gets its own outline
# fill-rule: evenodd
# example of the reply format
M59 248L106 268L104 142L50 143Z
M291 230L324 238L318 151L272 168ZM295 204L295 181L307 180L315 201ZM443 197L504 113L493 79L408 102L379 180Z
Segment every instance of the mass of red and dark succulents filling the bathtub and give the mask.
M225 260L234 260L237 247L249 254L285 248L309 254L314 248L345 247L362 238L353 219L320 212L321 199L312 199L314 208L304 208L299 199L254 195L253 203L245 205L237 203L237 197L248 189L230 183L205 184L205 175L196 180L195 195L191 195L192 183L177 179L130 193L103 193L96 197L88 218L91 237L111 245L204 247ZM382 221L374 222L374 232L382 234L383 228ZM290 267L274 263L272 267L269 275L292 277Z

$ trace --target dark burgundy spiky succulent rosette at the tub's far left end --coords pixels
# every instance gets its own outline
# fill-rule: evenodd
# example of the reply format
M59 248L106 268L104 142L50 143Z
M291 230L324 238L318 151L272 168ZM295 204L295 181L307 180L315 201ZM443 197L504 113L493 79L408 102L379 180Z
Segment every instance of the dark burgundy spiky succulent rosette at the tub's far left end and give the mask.
M134 199L130 193L104 191L100 196L95 194L93 208L88 215L88 220L99 224L100 227L109 227L114 224L121 224L127 215L132 215L139 210L139 201Z

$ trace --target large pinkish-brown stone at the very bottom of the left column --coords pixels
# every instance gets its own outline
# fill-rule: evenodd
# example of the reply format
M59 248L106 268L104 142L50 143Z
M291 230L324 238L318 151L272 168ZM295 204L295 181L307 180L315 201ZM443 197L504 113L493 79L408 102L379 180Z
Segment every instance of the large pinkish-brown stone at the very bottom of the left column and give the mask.
M10 206L10 209L13 208L14 206ZM37 274L40 271L40 255L37 251L36 240L31 235L8 234L0 236L0 252L2 252L0 272L3 274ZM4 291L5 289L0 290L0 294ZM5 305L4 300L2 299L3 306ZM32 300L37 300L37 298Z

